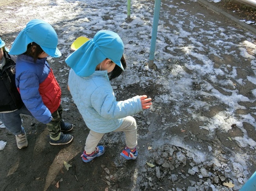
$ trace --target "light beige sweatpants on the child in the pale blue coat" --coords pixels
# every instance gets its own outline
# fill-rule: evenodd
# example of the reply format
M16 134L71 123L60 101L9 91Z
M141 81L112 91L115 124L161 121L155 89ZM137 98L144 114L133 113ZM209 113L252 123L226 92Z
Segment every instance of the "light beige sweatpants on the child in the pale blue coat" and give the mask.
M130 149L133 149L137 145L137 124L135 119L132 116L127 116L124 118L122 124L114 132L124 132L126 139L126 146ZM86 138L84 150L87 153L94 152L99 141L105 133L97 133L90 130L88 137Z

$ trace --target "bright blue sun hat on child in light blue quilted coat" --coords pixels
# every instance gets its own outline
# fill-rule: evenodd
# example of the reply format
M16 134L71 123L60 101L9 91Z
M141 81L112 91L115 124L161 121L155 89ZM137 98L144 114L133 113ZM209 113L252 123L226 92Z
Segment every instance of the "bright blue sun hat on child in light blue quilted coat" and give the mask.
M65 62L81 77L90 76L100 62L109 58L122 70L124 43L113 31L102 30L66 58Z

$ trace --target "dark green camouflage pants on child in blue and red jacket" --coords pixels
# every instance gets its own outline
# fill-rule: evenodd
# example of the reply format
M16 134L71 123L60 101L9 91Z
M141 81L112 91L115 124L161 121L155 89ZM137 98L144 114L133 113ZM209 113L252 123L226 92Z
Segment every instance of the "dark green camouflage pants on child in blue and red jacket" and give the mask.
M52 121L46 124L52 139L56 138L56 140L59 140L61 135L62 111L63 108L60 104L58 110L52 113Z

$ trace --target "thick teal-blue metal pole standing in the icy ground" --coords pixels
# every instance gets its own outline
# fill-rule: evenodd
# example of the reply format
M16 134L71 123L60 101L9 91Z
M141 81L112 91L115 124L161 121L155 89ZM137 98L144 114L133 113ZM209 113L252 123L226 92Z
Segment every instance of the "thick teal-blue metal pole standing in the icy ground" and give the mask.
M154 10L152 36L151 36L151 46L150 46L150 53L149 53L149 67L152 67L154 65L154 56L155 56L156 41L157 41L157 28L158 28L158 20L159 20L159 15L160 15L160 7L161 7L161 0L156 0L155 10Z

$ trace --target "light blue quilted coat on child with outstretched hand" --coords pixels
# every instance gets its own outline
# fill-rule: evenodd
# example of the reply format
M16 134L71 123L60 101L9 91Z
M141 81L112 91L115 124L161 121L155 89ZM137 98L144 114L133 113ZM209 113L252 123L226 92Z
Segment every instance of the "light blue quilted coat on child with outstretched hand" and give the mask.
M80 77L70 69L68 85L87 127L95 132L114 131L121 125L122 118L142 111L139 96L116 101L106 70Z

